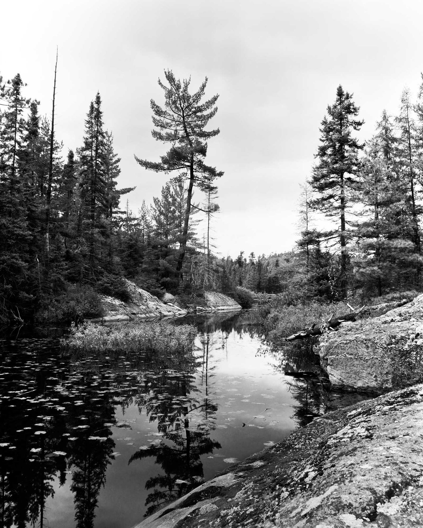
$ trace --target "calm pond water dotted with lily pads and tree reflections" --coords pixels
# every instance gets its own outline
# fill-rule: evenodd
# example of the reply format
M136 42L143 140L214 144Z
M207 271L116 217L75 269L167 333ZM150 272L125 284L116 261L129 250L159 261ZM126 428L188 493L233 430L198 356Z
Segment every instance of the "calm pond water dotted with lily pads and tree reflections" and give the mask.
M237 319L189 320L183 360L0 342L0 526L130 528L307 423L310 383Z

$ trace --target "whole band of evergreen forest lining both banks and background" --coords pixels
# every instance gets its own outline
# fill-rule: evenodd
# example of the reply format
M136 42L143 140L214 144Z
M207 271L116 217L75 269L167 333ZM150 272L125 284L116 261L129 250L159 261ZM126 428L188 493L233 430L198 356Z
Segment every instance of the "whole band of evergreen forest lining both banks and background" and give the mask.
M80 116L79 146L67 149L54 128L56 77L49 117L19 73L0 77L0 326L95 316L99 294L127 298L125 278L181 305L200 304L205 290L242 306L261 293L292 305L421 290L423 83L417 100L403 91L397 115L382 111L363 143L360 108L338 86L299 187L296 247L233 258L217 256L212 236L219 180L230 177L207 164L218 95L205 97L207 78L195 91L171 70L159 85L152 136L162 156L134 156L164 184L134 212L100 93Z

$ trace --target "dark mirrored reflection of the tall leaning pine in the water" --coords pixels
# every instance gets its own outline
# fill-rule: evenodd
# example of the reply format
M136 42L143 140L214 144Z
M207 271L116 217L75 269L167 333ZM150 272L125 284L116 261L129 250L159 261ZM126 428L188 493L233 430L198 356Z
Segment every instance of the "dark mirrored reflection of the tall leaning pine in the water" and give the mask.
M151 477L145 484L151 489L146 498L145 515L150 515L163 504L188 493L204 482L201 456L220 449L220 444L209 436L215 428L217 405L210 399L209 367L210 336L201 333L202 358L186 358L182 372L163 370L160 375L145 380L145 393L140 399L140 410L145 408L150 421L158 422L160 439L150 447L143 446L131 458L155 457L164 474ZM195 372L201 368L201 385L195 385Z

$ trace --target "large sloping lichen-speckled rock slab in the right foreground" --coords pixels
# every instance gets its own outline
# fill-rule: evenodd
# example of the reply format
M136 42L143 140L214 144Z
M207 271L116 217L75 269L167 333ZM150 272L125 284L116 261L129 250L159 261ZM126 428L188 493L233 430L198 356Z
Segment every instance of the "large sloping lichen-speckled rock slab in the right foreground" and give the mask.
M136 528L421 526L422 436L420 384L315 419Z

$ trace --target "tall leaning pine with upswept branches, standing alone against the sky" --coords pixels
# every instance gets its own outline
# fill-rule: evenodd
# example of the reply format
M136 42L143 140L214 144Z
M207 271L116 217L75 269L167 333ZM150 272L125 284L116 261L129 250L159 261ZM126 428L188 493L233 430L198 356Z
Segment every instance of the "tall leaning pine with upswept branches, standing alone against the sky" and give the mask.
M216 168L205 165L204 158L207 154L207 139L217 136L219 129L206 131L209 120L215 116L215 106L218 95L201 102L207 84L207 77L199 89L191 95L189 93L190 79L182 82L174 77L171 70L165 71L164 76L168 82L165 86L159 79L159 86L164 91L164 108L151 100L153 110L152 136L163 143L170 143L168 152L161 156L160 162L149 162L135 156L137 163L154 172L169 173L178 171L186 175L188 180L187 201L185 218L181 237L176 271L182 275L183 260L187 250L189 219L191 213L191 199L194 186L201 184L207 178L213 181L223 175Z

